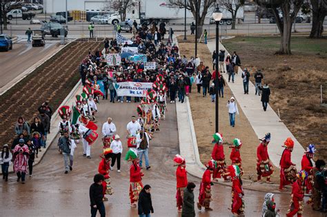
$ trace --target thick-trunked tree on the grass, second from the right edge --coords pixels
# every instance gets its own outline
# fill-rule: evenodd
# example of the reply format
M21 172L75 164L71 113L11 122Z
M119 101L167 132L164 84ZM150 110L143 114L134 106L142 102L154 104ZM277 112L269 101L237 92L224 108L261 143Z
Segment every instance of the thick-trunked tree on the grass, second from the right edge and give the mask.
M255 0L259 6L271 8L281 35L281 43L277 54L292 54L290 50L290 37L292 25L297 17L304 0ZM290 9L293 8L293 12ZM281 17L279 16L281 10Z

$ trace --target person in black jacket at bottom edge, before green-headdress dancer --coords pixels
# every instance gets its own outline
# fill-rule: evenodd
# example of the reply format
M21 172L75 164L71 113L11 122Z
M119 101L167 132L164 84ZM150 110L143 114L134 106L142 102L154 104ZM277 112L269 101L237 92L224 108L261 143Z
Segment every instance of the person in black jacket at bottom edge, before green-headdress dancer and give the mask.
M154 212L150 191L150 185L145 185L139 193L139 202L137 205L139 209L139 217L150 217L150 213Z

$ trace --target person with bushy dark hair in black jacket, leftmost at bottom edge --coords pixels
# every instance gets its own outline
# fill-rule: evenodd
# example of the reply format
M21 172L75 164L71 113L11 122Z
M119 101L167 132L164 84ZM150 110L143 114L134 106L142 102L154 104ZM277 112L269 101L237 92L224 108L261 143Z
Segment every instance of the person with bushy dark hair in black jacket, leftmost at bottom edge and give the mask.
M102 174L96 174L93 178L94 183L90 186L91 217L97 216L98 210L101 217L106 216L106 208L103 205L103 180Z

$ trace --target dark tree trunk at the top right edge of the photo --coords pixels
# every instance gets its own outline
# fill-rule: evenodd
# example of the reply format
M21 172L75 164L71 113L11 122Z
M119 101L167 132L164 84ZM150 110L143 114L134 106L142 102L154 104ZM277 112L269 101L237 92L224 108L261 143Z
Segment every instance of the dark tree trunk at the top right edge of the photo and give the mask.
M306 0L302 12L313 13L313 25L310 32L311 39L322 38L324 32L324 20L327 15L327 0Z

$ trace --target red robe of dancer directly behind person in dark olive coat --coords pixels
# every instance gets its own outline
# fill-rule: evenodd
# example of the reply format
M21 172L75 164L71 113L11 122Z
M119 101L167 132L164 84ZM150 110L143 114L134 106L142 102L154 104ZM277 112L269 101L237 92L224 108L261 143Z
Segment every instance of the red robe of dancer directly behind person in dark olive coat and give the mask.
M186 173L186 169L182 169L181 165L179 165L176 169L176 179L177 179L177 192L176 192L176 201L178 209L183 207L183 196L184 196L184 188L188 185L188 176Z

